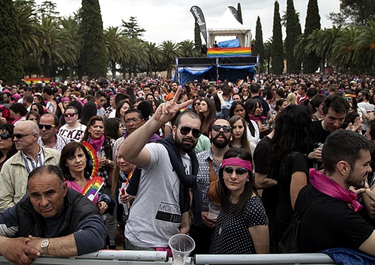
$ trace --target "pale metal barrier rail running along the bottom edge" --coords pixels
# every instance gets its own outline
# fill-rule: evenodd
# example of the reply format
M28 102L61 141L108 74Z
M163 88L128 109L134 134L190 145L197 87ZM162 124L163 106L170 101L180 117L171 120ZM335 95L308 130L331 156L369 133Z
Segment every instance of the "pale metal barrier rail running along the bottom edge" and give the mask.
M61 264L61 265L96 265L96 264L127 264L127 265L155 265L172 264L164 251L113 251L102 250L82 256L59 258L42 256L33 264ZM10 264L0 255L0 264ZM322 253L312 254L253 254L253 255L195 255L188 258L185 265L193 264L336 264L330 257Z

